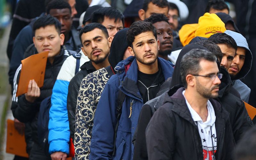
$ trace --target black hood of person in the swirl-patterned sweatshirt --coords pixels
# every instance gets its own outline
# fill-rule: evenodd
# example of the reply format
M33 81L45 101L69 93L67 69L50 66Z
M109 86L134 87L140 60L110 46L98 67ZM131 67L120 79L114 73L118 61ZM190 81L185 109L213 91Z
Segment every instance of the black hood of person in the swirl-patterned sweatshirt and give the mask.
M118 31L112 40L108 62L113 70L116 65L123 60L124 52L128 48L128 43L126 40L126 32L128 29L129 28L124 28Z

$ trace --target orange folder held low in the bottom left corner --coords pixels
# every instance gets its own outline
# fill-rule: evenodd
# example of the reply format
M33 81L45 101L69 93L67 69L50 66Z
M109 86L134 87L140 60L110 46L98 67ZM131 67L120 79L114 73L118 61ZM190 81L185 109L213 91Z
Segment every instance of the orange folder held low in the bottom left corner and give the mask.
M24 134L23 136L19 134L14 128L14 121L10 119L7 120L6 152L21 157L28 157L25 136Z

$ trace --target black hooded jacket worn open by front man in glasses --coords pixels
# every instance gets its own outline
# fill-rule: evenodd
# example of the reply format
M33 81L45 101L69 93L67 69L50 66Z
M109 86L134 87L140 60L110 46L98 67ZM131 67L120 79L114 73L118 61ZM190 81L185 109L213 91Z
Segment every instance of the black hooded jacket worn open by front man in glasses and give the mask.
M183 87L163 94L164 104L157 109L146 129L148 159L203 160L203 148L198 128L188 110ZM229 114L221 104L211 99L216 120L216 160L233 159L235 141L228 120ZM144 108L145 107L145 108ZM151 109L150 107L144 106ZM144 110L141 110L144 112Z

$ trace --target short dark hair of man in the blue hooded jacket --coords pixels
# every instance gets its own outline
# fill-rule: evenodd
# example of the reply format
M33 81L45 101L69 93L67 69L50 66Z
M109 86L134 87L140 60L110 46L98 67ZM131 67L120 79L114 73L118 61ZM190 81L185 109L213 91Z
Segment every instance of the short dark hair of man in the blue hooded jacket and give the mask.
M139 35L140 33L144 33L147 31L152 31L153 35L157 39L157 34L156 34L156 27L150 23L150 22L145 22L145 21L135 21L132 23L130 26L129 30L126 33L126 39L128 42L128 45L130 47L132 46L132 42L134 41L135 36Z

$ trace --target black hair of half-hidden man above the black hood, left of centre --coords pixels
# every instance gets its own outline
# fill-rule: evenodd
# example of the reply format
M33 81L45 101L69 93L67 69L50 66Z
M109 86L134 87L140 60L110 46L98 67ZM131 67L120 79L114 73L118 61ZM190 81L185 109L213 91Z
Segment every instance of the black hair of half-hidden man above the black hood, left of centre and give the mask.
M92 13L92 18L91 18L92 23L102 24L105 16L108 17L109 19L115 18L115 22L117 20L121 20L124 26L124 15L119 10L116 10L113 7L103 7L98 10L95 10Z

